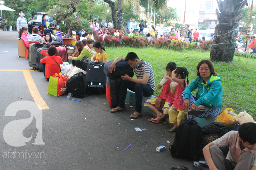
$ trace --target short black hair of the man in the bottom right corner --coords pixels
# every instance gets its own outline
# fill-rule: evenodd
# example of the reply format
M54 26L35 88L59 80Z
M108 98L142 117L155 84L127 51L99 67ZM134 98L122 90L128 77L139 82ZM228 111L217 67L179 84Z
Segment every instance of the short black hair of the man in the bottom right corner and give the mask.
M238 133L243 142L248 142L249 144L256 143L256 123L243 123L239 127Z

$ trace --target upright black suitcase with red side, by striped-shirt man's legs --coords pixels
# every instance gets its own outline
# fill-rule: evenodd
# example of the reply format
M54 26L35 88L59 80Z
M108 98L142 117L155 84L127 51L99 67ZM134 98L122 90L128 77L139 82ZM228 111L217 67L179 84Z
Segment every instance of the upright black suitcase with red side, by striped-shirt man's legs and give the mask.
M118 106L121 82L122 82L121 78L110 79L109 77L107 77L106 96L107 96L108 104L112 108L115 108Z

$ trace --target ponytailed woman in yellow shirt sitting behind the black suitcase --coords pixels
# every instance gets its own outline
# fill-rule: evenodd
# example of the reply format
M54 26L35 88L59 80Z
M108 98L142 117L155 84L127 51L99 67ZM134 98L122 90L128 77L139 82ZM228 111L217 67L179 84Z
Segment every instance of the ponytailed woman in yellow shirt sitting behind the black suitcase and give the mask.
M103 63L108 62L108 54L106 53L105 48L102 46L100 42L95 42L93 44L93 48L95 49L96 53L93 57L91 57L91 62L94 62L94 60Z

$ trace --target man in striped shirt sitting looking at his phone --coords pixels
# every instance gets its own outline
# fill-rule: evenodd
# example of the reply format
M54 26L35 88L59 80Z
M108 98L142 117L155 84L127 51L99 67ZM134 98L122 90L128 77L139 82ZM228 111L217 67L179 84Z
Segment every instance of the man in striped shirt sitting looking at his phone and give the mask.
M130 66L134 68L137 79L129 77L128 75L121 76L122 82L119 92L119 106L113 108L110 112L115 113L124 110L124 101L127 89L129 89L135 92L136 98L135 112L130 118L138 119L141 116L143 95L147 97L153 95L154 89L156 88L152 66L147 61L140 60L134 52L130 52L125 58L115 58L113 63L109 66L109 73L115 71L115 64L119 61L125 61L130 64Z

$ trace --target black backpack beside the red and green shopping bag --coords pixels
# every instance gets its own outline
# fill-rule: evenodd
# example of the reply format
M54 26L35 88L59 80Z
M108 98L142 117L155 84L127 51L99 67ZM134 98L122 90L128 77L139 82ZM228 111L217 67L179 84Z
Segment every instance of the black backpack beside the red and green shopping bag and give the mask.
M79 72L70 77L67 83L67 91L77 98L88 96L90 92L86 82L86 75L83 72Z

